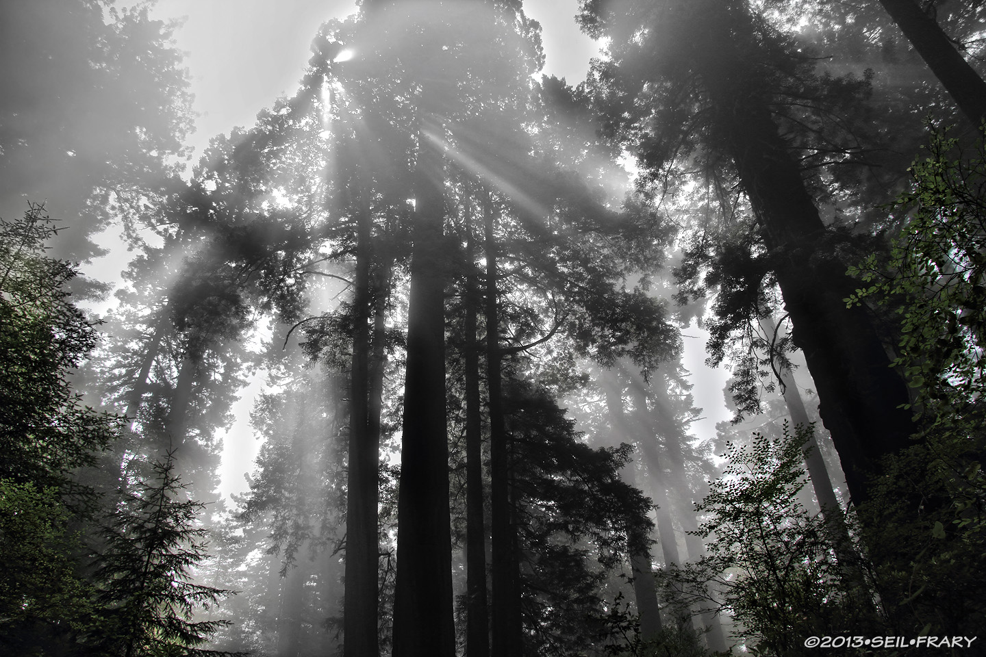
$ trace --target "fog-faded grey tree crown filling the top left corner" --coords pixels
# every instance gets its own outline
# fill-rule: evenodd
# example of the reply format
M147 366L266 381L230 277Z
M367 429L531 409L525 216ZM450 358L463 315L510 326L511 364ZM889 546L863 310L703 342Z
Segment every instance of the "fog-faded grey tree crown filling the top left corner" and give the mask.
M56 252L89 260L92 235L177 180L192 130L188 73L153 0L36 0L0 5L0 216L46 199L72 230ZM87 285L91 285L89 281Z

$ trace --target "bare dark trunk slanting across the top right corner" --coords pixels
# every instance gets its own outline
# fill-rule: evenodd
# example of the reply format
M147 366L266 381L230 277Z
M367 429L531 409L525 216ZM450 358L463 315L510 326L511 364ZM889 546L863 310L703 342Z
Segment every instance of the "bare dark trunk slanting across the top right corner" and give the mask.
M914 0L880 0L946 91L974 126L986 117L986 82L955 49L938 22Z

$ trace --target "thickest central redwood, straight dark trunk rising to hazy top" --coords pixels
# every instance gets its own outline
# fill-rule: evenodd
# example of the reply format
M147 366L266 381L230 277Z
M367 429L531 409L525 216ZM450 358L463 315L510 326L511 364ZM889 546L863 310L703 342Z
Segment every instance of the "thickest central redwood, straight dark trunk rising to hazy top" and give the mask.
M418 112L393 603L393 654L399 657L455 653L445 395L445 173L428 131L441 131L436 118L452 109L442 101L448 102L449 95L439 81L453 75L449 63L462 42L458 34L443 30L445 24L429 9L434 7L401 2L368 7L373 37L381 39L378 43L392 39L383 49L407 58Z

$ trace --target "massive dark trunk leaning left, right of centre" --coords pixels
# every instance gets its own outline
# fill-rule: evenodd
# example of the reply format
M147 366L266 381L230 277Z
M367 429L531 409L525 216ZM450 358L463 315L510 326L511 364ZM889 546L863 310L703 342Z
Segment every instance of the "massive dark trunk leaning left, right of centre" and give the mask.
M767 105L750 92L755 75L736 43L737 34L748 30L741 25L748 17L726 12L718 0L706 4L718 13L708 35L716 48L696 63L711 100L713 129L736 164L773 257L794 343L805 353L822 421L859 503L868 497L867 480L880 459L909 444L914 426L909 412L898 408L909 401L907 390L890 369L867 310L846 307L843 299L854 283L845 265L825 251L825 226L801 171Z

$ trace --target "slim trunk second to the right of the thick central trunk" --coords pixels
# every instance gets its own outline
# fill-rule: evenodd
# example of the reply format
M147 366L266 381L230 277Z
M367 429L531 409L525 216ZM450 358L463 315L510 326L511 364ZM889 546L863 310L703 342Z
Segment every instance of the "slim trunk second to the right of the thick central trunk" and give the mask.
M486 237L486 384L490 415L490 515L493 539L493 655L521 657L524 652L523 619L515 528L511 523L510 446L503 411L495 216L488 193L483 202L483 219Z

